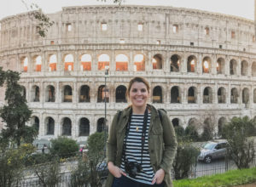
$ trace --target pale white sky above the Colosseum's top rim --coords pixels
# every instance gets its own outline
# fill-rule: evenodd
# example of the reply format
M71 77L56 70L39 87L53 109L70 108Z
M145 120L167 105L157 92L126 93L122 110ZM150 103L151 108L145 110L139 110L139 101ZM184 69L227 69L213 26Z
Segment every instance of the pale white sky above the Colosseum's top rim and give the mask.
M24 2L37 3L44 13L61 11L61 7L83 6L93 4L111 4L112 0L23 0ZM124 4L164 5L172 7L195 8L236 15L249 20L254 20L253 0L125 0ZM0 20L6 16L27 12L22 0L0 0Z

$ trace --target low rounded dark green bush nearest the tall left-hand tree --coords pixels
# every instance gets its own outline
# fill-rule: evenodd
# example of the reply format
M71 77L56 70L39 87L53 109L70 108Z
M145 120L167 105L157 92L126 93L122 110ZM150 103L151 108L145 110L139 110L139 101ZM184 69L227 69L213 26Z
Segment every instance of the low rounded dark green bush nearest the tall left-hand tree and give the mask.
M58 137L58 139L51 139L50 154L57 155L61 158L68 158L75 156L79 151L79 144L76 140L68 139L67 137Z

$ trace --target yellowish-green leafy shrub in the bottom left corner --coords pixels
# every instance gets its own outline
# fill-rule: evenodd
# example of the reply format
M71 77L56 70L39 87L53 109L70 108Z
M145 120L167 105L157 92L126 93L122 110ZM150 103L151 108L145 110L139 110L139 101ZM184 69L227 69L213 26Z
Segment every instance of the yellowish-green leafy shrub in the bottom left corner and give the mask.
M32 144L21 144L9 149L5 142L0 143L0 186L14 186L23 177L24 161L35 150Z

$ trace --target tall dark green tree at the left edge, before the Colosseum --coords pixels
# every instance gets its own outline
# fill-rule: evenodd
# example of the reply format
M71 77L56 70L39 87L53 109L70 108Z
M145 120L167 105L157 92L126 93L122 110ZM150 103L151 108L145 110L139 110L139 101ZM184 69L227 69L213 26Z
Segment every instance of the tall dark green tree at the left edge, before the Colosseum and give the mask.
M0 117L6 123L1 136L9 142L20 146L21 141L32 143L38 135L35 127L26 126L32 111L26 105L26 98L22 95L23 88L18 81L20 74L15 71L3 71L0 69L0 86L5 83L5 100L7 105L0 109Z

